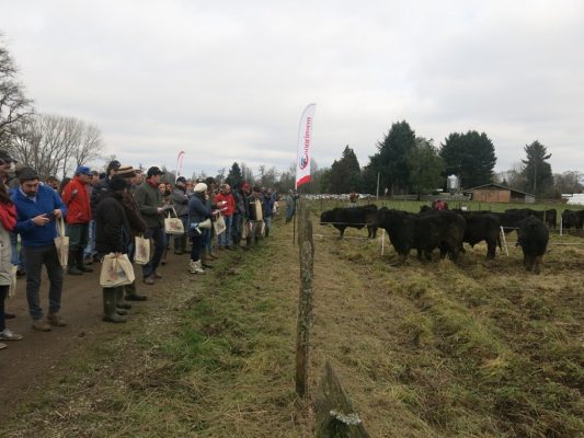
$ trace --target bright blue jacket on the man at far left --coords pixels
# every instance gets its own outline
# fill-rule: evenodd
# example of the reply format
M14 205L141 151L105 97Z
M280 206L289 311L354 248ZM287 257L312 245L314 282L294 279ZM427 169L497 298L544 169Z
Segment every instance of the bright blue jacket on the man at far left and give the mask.
M38 185L36 201L24 195L20 188L14 191L12 201L16 206L16 227L14 232L21 234L23 246L47 246L54 244L57 237L55 218L39 227L33 222L38 215L50 215L60 209L62 216L67 215L67 207L57 192L46 185Z

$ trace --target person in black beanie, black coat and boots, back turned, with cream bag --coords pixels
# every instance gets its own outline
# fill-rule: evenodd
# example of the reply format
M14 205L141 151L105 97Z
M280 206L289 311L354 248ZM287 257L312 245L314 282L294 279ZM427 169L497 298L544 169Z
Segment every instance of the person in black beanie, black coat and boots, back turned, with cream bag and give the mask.
M122 198L128 183L121 175L110 180L95 211L95 250L101 254L126 254L129 240L129 224L124 212ZM103 288L103 321L126 322L125 309L131 306L124 301L124 286Z

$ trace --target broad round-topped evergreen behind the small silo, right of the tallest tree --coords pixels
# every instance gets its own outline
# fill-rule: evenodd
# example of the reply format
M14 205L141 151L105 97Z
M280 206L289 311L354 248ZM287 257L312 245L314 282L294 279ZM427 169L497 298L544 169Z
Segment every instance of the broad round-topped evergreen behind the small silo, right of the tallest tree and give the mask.
M461 187L489 184L493 178L495 147L484 132L450 134L442 145L439 155L444 159L444 176L457 175Z

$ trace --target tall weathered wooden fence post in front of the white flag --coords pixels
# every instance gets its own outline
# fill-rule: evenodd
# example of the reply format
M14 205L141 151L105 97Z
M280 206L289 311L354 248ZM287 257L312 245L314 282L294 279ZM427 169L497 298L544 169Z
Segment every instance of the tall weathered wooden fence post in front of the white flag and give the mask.
M298 216L298 240L300 244L300 295L298 298L298 325L296 338L296 393L304 397L308 393L308 347L310 325L312 324L312 276L314 266L314 245L312 222L308 211L300 203Z

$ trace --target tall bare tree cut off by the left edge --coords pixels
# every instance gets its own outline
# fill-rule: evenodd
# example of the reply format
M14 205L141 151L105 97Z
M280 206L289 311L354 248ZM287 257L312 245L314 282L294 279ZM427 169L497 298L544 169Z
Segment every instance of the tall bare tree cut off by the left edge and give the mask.
M0 34L0 148L12 150L13 142L27 117L33 114L33 101L24 95L16 81L18 68Z

